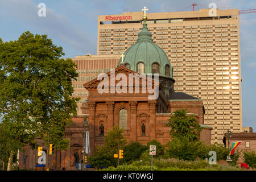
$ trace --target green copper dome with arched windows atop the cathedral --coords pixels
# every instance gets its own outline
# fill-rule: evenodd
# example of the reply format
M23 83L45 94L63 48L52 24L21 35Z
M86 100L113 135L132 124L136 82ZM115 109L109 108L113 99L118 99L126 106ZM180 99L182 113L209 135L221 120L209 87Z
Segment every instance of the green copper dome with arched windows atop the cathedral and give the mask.
M123 55L123 63L125 66L139 73L158 73L159 76L172 78L172 65L162 48L157 46L152 34L147 29L146 21L143 21L142 31L138 34L137 42L128 48ZM122 58L119 60L118 66L121 64ZM137 68L139 63L143 68ZM143 69L143 71L138 71Z

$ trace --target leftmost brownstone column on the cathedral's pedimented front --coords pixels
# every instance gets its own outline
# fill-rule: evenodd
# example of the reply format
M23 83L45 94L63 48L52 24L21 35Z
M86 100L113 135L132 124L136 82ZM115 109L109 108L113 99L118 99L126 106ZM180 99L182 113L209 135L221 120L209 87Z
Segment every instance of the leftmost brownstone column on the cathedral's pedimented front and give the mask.
M88 121L88 131L90 137L90 154L94 154L95 150L95 109L96 102L89 102L89 121Z

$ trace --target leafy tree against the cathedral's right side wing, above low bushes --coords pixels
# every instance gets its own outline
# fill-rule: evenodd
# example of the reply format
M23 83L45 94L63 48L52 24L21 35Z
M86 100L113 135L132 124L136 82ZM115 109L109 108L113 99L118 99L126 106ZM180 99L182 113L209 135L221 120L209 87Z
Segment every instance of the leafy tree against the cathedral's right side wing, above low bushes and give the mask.
M168 127L171 127L170 135L173 139L188 138L189 141L197 141L202 128L194 115L187 115L187 111L176 110L168 119Z

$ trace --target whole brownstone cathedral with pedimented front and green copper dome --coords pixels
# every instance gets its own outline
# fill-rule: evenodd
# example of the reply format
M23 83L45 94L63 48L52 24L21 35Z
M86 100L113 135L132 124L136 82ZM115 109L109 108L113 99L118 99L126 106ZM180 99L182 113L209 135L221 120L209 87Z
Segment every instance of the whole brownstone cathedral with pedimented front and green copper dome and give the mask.
M82 102L82 114L74 117L65 130L65 138L70 140L69 150L56 150L49 157L49 168L76 170L75 160L82 159L84 150L85 121L90 146L87 156L104 144L107 131L117 125L128 141L146 144L155 139L166 144L171 140L170 127L166 126L168 119L173 111L180 109L187 109L189 115L198 119L203 127L200 140L210 144L212 127L204 125L203 101L184 92L174 92L172 65L163 49L153 42L146 20L143 16L137 42L123 53L117 67L84 84L88 100ZM33 168L38 156L34 159L35 151L27 148L29 152L33 155L28 155L27 161L32 164L27 167ZM22 164L20 168L24 167Z

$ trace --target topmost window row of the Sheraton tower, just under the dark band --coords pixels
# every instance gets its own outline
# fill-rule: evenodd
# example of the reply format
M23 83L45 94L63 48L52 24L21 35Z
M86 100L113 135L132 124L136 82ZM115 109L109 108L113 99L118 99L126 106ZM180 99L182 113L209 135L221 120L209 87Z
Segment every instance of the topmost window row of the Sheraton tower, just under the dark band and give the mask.
M172 26L172 27L155 27L155 30L168 30L168 29L195 29L195 28L213 28L213 27L216 27L216 28L220 28L220 27L237 27L237 24L215 24L215 25L201 25L201 26L178 26L178 27L175 27L175 26ZM148 27L148 30L152 30L154 29L154 27ZM118 32L118 31L139 31L140 28L121 28L121 29L102 29L100 30L100 32L111 32L111 31L114 31L114 32Z

